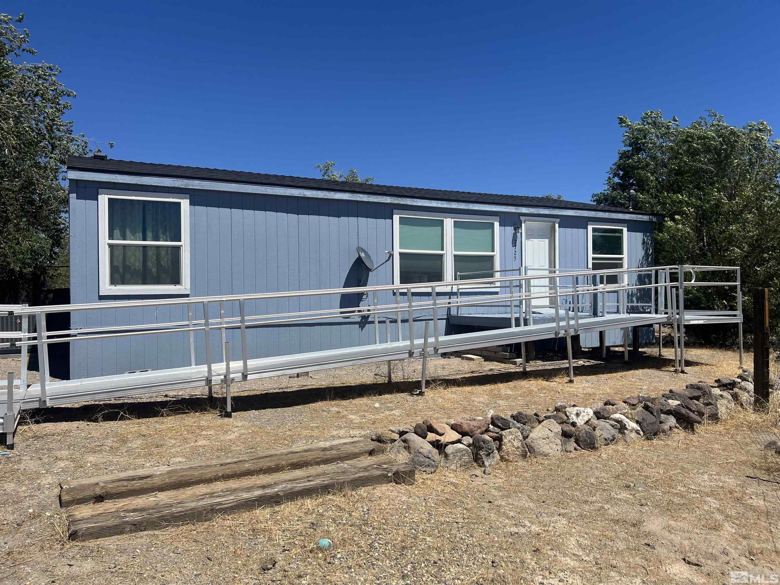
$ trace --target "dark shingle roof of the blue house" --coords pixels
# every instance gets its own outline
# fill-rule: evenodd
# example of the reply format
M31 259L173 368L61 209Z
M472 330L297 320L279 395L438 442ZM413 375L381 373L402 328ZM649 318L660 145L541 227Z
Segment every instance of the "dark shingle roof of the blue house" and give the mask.
M186 167L179 165L159 165L151 162L101 160L91 157L68 157L69 171L109 172L119 175L168 177L175 179L198 179L219 183L243 183L246 185L268 185L295 187L298 189L316 189L322 191L340 191L365 193L369 195L388 195L420 200L458 201L473 204L491 204L526 207L546 207L548 209L578 209L582 211L612 211L613 213L654 214L629 211L622 207L606 207L580 201L548 199L547 197L527 197L525 195L501 195L496 193L471 193L468 191L447 191L440 189L420 189L418 187L399 187L364 183L346 183L327 179L310 179L285 175L268 175L261 172L225 171L219 168Z

